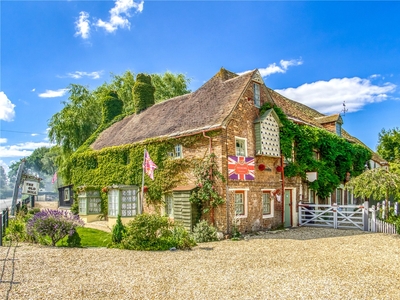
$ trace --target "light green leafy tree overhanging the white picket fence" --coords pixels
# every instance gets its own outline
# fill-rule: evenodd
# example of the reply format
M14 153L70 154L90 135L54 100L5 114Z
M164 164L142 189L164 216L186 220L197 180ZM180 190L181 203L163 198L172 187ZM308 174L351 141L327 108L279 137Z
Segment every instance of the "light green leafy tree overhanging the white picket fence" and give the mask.
M389 196L400 195L400 176L384 168L372 169L352 178L346 187L351 188L356 197L387 202Z

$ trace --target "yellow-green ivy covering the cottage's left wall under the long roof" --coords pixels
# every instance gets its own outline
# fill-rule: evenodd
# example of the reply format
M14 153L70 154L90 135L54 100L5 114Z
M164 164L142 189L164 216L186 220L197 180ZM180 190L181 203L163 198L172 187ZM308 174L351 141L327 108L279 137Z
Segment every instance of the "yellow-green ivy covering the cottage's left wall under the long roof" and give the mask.
M215 133L207 133L207 136ZM172 159L169 156L176 144L192 147L204 142L202 135L188 136L180 139L155 138L141 143L107 147L94 151L89 147L79 149L68 161L65 178L74 187L96 186L102 189L113 184L142 185L142 164L144 149L157 165L154 180L145 176L147 186L146 201L157 203L164 193L171 191L179 184L186 184L189 170L197 163L195 158ZM76 193L77 194L77 193ZM104 194L104 195L103 195ZM102 193L102 200L107 201ZM106 214L107 206L102 205L102 213Z

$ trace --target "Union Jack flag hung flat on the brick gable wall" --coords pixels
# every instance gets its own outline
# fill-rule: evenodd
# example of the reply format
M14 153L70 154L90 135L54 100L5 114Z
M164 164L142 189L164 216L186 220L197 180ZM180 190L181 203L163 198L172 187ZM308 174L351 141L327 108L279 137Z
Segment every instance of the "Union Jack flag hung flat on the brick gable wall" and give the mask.
M254 157L228 156L228 172L231 180L254 180Z

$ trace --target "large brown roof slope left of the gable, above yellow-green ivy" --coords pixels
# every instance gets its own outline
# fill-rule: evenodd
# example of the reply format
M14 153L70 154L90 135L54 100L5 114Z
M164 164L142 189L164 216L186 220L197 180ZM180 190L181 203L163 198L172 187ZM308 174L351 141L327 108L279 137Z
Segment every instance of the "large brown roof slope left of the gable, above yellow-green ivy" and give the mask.
M238 76L221 69L197 91L155 104L113 124L100 134L91 148L100 150L149 138L217 129L235 107L254 72L257 71Z

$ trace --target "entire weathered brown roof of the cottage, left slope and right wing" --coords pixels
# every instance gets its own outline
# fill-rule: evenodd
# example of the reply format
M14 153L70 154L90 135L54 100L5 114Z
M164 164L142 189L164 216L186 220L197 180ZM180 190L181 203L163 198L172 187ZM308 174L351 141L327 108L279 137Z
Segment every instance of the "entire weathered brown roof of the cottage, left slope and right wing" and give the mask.
M130 115L104 130L91 145L94 150L105 147L132 144L149 138L174 137L195 134L206 130L221 128L235 108L242 93L251 82L257 70L237 75L221 70L197 91L175 97L149 107L140 114ZM267 89L268 101L275 103L289 119L328 130L327 122L340 122L339 114L326 116L304 104L290 100L274 90ZM334 130L330 130L335 133ZM357 138L342 128L342 137L363 145ZM371 150L372 151L372 150ZM385 160L373 153L373 160Z

